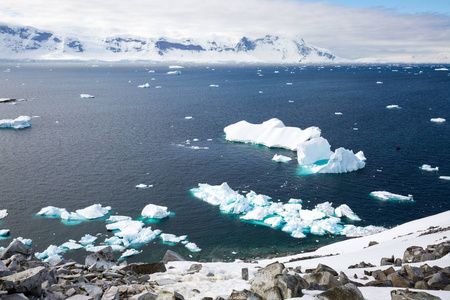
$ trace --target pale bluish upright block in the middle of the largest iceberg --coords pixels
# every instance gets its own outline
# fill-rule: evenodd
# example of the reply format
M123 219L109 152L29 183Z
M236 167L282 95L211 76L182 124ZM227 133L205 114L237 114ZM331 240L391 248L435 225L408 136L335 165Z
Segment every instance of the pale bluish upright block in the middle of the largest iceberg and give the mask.
M297 146L297 160L301 165L310 165L320 160L330 159L333 152L331 146L323 137L317 137L299 143Z

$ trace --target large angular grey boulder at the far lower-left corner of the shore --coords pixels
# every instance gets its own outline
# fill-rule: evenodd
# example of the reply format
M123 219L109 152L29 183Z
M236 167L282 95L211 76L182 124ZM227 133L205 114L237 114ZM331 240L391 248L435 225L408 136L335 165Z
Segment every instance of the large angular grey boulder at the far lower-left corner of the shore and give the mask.
M40 289L47 275L48 270L46 268L36 267L4 276L0 278L0 290L11 293L29 293L36 288Z

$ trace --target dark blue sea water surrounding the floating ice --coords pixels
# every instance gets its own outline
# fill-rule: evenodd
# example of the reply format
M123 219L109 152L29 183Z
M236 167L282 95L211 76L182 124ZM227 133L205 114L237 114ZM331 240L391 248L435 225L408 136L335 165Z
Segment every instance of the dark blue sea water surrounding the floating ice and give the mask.
M299 198L308 209L345 203L362 219L358 226L390 228L450 209L450 181L439 179L450 176L450 76L435 70L442 66L183 66L181 75L167 75L173 69L161 64L1 63L0 98L28 101L0 103L0 119L39 118L27 129L0 130L0 209L9 213L0 229L10 229L0 246L21 236L43 251L87 233L98 235L100 245L113 235L106 217L66 225L36 216L50 205L75 211L96 203L111 206L110 215L134 219L147 204L167 206L174 216L148 226L188 235L202 249L192 253L157 238L129 262L160 260L167 249L192 259L234 260L345 238L296 239L223 215L192 196L199 183L227 182L273 201ZM137 87L145 83L150 88ZM386 108L393 104L401 109ZM430 122L438 117L447 122ZM332 150L362 150L366 167L301 175L295 152L224 138L227 125L271 118L302 129L318 126ZM293 160L276 163L274 154ZM422 171L423 164L439 171ZM136 189L140 183L153 187ZM415 202L369 196L380 190L412 194ZM64 257L83 262L87 254L82 249Z

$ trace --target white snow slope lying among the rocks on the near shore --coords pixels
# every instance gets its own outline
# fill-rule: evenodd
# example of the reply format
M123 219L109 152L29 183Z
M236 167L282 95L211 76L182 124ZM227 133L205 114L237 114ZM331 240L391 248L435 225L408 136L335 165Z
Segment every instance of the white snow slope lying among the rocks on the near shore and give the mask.
M440 232L435 232L436 230L430 232L429 228L434 226L442 228L443 230ZM392 255L396 258L403 258L405 250L410 246L421 246L426 248L427 245L448 241L449 230L450 211L446 211L434 216L408 222L371 236L349 239L327 245L314 252L265 259L260 260L257 263L248 263L240 260L231 263L202 263L203 268L198 273L188 274L190 266L196 262L169 262L166 266L168 269L167 272L152 274L152 281L165 282L165 285L160 285L158 287L161 291L177 291L186 299L202 299L203 297L215 298L217 296L227 298L233 290L250 288L249 282L241 279L242 268L248 268L249 278L251 279L259 268L278 261L283 263L287 268L296 268L300 266L302 271L316 268L319 263L325 264L335 269L337 272L344 272L352 280L364 284L373 280L361 279L364 277L364 270L385 270L390 267L380 266L381 258L391 257ZM376 241L378 244L368 247L369 242L371 241ZM348 268L350 265L355 265L362 261L371 263L376 267L359 269ZM450 266L450 254L447 254L441 259L427 261L426 263L430 266ZM417 267L423 264L425 264L425 262L409 263L409 265ZM399 269L400 267L395 268ZM356 274L359 279L354 279L354 274ZM363 293L365 299L378 300L390 299L390 291L398 288L360 287L359 289ZM293 299L313 299L314 295L320 293L320 291L307 290L304 290L303 292L305 295L302 298ZM438 296L441 299L450 299L450 291L427 290L426 292Z

